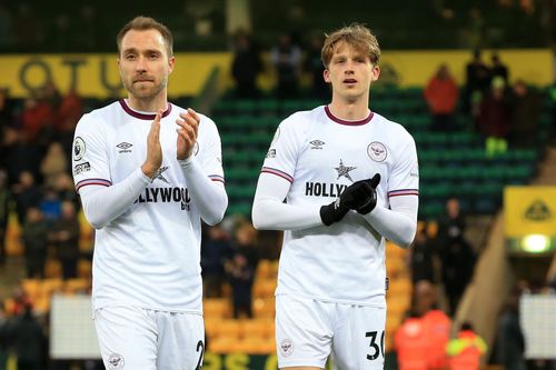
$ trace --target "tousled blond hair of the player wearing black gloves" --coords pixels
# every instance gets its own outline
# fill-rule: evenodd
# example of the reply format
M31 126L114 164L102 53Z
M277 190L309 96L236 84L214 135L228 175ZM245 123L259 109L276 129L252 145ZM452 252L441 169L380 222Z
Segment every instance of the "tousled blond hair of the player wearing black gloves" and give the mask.
M380 58L380 47L375 34L365 26L351 23L326 36L325 44L320 52L320 59L325 68L328 68L336 47L345 42L357 51L367 56L376 64Z

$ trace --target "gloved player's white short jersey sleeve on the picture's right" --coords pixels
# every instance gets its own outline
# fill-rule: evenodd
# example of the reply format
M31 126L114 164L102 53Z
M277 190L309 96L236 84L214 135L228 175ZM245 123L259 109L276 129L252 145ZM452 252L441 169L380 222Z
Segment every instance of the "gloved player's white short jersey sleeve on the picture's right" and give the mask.
M419 194L419 164L415 140L407 134L400 158L394 164L388 182L388 197Z

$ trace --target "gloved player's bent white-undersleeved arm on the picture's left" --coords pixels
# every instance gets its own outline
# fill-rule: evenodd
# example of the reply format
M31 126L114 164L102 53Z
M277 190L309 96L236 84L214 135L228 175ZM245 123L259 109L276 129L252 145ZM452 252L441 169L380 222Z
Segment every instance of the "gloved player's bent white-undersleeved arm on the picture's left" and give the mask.
M284 203L289 182L274 174L261 173L252 203L252 224L259 230L299 230L322 226L320 206Z

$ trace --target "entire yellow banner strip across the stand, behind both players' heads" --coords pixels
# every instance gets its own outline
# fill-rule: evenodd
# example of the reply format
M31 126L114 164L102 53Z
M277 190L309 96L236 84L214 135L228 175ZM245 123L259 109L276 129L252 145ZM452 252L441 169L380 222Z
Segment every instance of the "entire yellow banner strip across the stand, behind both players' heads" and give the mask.
M509 69L510 82L523 79L527 83L546 87L553 82L553 56L548 49L498 50L500 60ZM220 90L234 86L230 52L176 53L176 68L168 89L169 96L196 96L210 71L220 69ZM448 64L457 83L465 82L465 67L471 53L467 50L384 50L380 80L401 88L424 87L440 63ZM484 52L489 64L490 52ZM24 98L52 79L61 92L76 88L85 97L109 98L126 94L121 88L116 53L88 54L12 54L0 57L0 88L9 88L10 94ZM258 78L261 89L276 84L276 71L268 53L264 54L265 70ZM300 78L306 84L307 73Z

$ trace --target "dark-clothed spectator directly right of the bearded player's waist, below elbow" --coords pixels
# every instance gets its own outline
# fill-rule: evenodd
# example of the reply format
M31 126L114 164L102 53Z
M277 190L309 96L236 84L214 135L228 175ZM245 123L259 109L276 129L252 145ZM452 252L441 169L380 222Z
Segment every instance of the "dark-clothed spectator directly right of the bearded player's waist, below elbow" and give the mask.
M207 238L201 248L202 281L206 298L222 296L224 264L231 256L230 236L221 226L207 227Z

